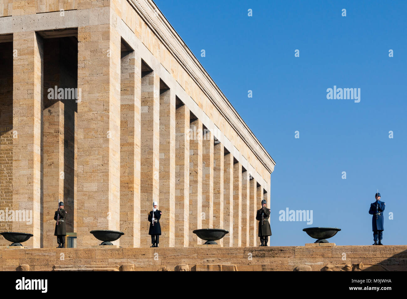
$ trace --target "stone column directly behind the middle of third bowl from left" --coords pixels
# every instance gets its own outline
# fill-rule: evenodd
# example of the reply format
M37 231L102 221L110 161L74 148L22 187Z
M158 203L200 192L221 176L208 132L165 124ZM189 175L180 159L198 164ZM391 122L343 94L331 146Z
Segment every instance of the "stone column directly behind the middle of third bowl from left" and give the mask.
M202 140L202 228L213 228L213 133L204 129Z

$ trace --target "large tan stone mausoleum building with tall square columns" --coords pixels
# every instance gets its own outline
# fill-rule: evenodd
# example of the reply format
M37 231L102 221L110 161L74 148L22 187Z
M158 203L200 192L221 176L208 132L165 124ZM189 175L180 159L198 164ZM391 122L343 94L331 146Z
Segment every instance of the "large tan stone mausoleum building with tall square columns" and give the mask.
M0 0L0 232L150 247L158 201L160 247L256 246L275 164L152 0Z

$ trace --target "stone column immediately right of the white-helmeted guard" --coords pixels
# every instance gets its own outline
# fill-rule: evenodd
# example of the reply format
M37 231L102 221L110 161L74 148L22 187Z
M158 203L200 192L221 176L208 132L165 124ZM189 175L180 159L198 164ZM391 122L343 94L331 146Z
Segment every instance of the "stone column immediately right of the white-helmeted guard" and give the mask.
M163 247L175 244L175 92L160 94L160 219Z

